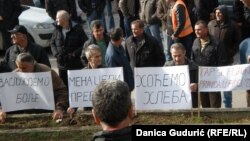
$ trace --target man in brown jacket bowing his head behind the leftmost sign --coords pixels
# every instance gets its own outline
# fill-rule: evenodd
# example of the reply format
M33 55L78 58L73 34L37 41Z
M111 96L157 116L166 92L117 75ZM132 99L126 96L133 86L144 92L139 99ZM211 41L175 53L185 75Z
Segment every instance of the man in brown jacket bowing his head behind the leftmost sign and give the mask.
M53 112L52 118L53 120L62 119L64 111L66 111L68 108L68 91L65 84L57 75L57 73L46 65L36 63L33 56L29 53L19 54L16 59L16 65L17 69L14 70L15 72L28 73L28 72L51 71L55 107L56 107L55 111ZM29 113L30 111L24 111L24 112ZM34 113L37 112L39 111L34 111ZM5 118L6 118L5 113L2 111L2 109L0 109L0 122L4 122Z

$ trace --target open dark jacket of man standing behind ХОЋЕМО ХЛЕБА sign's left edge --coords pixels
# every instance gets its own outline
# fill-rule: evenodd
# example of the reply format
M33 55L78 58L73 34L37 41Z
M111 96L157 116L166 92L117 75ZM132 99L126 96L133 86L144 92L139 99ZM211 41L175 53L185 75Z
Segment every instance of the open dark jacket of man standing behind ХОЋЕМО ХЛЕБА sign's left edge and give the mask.
M165 55L160 43L151 35L144 32L143 43L137 46L136 38L128 37L125 42L130 66L134 67L160 67L165 63Z

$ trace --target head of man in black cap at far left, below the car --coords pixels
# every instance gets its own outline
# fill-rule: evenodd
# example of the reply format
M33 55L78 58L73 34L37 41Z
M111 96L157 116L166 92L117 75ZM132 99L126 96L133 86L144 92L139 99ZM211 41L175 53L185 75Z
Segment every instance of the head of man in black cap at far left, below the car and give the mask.
M11 33L11 39L13 44L20 45L23 42L27 42L28 32L23 25L16 25L12 30L9 30Z

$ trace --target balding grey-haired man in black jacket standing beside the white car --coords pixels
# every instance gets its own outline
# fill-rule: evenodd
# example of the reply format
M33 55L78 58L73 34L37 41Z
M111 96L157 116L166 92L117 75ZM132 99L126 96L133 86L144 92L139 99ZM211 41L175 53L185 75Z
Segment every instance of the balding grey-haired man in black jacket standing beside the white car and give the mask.
M82 46L88 40L82 25L70 19L65 10L59 10L56 15L56 30L51 38L51 51L56 57L59 76L68 86L68 70L83 68L80 60Z

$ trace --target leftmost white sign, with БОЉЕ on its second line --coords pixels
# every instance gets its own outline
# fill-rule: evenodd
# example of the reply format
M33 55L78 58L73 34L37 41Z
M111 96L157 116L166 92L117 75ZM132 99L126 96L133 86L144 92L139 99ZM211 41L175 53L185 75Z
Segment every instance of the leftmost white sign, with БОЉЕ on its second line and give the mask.
M0 73L0 88L0 99L5 112L55 109L51 72Z

